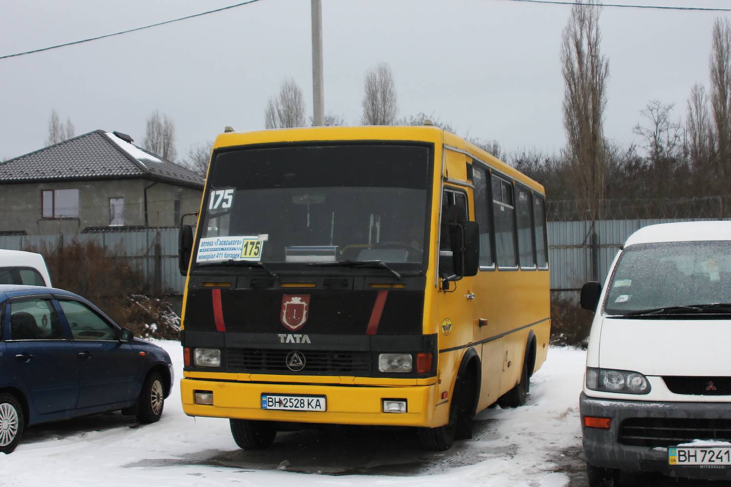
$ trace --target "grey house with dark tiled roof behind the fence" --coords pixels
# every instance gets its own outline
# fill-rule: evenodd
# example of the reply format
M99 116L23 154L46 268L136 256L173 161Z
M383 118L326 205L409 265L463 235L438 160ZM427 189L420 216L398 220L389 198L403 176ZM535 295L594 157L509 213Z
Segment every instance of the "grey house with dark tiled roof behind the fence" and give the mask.
M0 235L178 226L204 178L95 130L0 164Z

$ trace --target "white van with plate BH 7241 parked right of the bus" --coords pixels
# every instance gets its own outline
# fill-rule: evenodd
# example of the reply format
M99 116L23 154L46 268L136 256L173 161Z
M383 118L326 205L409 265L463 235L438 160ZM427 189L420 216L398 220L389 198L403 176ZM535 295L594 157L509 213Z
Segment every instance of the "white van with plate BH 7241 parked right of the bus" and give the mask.
M596 310L580 396L590 486L622 470L731 478L731 222L646 226Z

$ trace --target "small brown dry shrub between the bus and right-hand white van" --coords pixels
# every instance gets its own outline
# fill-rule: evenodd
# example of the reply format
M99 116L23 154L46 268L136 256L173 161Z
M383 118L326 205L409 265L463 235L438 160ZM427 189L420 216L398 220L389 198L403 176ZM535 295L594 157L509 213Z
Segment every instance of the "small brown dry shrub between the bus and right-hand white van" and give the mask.
M551 345L586 348L594 313L578 302L553 294L550 299Z

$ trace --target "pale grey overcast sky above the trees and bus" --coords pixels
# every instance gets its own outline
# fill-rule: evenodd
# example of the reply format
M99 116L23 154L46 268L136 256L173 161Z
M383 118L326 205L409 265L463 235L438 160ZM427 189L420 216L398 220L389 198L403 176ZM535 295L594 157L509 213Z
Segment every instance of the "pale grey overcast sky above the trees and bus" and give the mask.
M0 55L170 20L235 0L7 0ZM616 3L624 3L617 0ZM634 0L731 8L729 0ZM325 112L357 124L363 77L391 66L399 116L434 112L461 136L507 150L559 150L559 50L569 6L506 0L323 0ZM731 12L729 12L731 13ZM610 61L605 134L640 142L632 127L648 101L685 114L694 83L708 85L713 21L723 12L605 7ZM731 16L730 16L731 17ZM56 109L76 134L122 131L142 144L145 120L175 120L178 153L224 126L264 127L287 77L312 114L308 0L253 4L82 45L0 60L0 160L43 147Z

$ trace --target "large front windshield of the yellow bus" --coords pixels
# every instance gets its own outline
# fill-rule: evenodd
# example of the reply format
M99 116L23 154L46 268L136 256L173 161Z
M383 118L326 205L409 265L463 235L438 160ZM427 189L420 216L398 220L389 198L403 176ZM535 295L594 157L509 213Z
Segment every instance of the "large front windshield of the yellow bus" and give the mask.
M430 154L424 145L389 144L218 153L200 237L257 239L262 263L421 266ZM197 264L202 255L199 246Z

